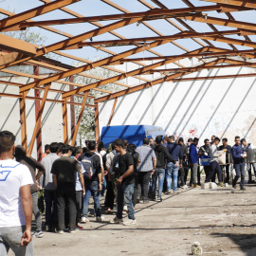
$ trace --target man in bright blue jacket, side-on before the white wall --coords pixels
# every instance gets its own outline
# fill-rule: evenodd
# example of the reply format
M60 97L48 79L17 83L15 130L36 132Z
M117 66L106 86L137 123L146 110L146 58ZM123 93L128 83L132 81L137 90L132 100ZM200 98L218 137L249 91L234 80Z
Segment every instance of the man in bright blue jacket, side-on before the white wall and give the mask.
M192 165L192 187L199 188L200 186L196 184L197 180L197 169L198 169L198 152L196 149L196 145L198 144L199 138L194 137L192 140L192 145L190 146L190 155L189 155L189 162Z

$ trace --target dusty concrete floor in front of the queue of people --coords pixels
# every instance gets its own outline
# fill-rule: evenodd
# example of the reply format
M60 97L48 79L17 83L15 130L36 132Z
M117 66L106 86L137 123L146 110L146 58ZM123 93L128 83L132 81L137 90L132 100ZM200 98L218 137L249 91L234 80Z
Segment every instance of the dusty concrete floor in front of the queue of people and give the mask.
M247 191L229 188L188 189L164 195L161 203L137 204L137 225L105 221L82 224L74 234L45 232L33 239L35 255L192 255L200 242L203 255L256 255L256 185ZM9 253L9 255L13 255Z

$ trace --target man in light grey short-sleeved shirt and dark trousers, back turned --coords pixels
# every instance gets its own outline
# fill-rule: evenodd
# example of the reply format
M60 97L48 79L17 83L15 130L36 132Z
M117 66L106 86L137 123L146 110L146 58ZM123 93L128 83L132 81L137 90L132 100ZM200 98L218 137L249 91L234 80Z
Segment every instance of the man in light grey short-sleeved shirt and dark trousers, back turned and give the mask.
M155 151L149 145L149 138L143 139L143 145L137 147L136 152L139 155L140 163L137 167L137 199L142 193L143 203L147 204L149 193L149 182L151 174L155 172L156 156Z

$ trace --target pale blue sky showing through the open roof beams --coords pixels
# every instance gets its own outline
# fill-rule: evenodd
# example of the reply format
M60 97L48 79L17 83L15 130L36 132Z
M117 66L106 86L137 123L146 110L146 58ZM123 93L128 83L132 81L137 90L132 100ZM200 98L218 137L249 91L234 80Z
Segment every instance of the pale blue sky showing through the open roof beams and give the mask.
M118 4L120 7L127 9L131 12L149 10L147 7L142 5L137 0L129 0L129 1L128 0L114 0L112 2ZM148 0L147 2L155 8L159 8L152 1ZM169 9L188 8L188 6L186 4L184 4L184 2L182 0L161 0L160 2L162 4L164 4L165 6L167 6ZM1 9L8 9L9 11L12 11L15 13L20 13L20 12L26 11L27 9L32 9L32 8L36 8L41 5L44 5L43 2L36 1L36 0L26 0L26 1L2 0L2 1L0 1L0 3L1 3ZM198 1L198 0L192 0L191 3L195 7L215 5L210 2L204 2L204 1ZM105 4L104 2L102 2L100 0L82 0L75 4L66 6L66 8L74 10L74 11L82 14L82 16L85 16L85 17L123 13L119 9L110 7L109 5ZM208 13L212 17L229 19L225 13L217 13L216 11L209 11L209 12L204 12L204 13ZM231 12L231 14L237 21L256 23L255 10L236 11L236 12ZM2 18L4 18L4 16L2 16ZM57 10L48 12L46 14L43 14L41 16L37 16L37 17L33 18L33 20L34 21L42 21L42 20L48 20L48 19L65 19L65 18L74 18L74 16L72 16L62 10L57 9ZM174 19L171 19L171 20L174 21L179 27L182 27L183 29L188 30L186 27L183 27L181 24L179 24ZM116 21L105 21L105 22L100 22L100 23L101 23L101 25L107 25L107 24L114 23L114 22L116 22ZM202 24L202 23L192 22L192 21L185 21L185 22L189 26L191 26L193 29L195 29L197 32L211 32L212 31L212 29L207 24ZM164 35L173 35L175 33L180 32L180 30L178 30L176 27L172 26L165 20L147 21L147 23L150 26L155 27L155 29L157 29L160 33L162 33ZM96 26L93 26L88 23L58 25L58 26L52 26L52 27L63 30L72 35L79 35L86 31L97 28ZM220 31L236 29L235 27L221 27L221 26L215 26L215 27L217 29L219 29ZM66 39L66 37L64 37L64 36L49 32L43 28L31 27L29 29L30 29L30 31L36 31L36 32L39 31L42 35L46 36L46 42L44 42L45 46L48 46L48 45L51 45L58 41L62 41L62 40ZM125 38L137 38L137 37L140 38L140 37L157 36L157 34L154 31L152 31L148 27L145 27L143 24L140 24L139 26L137 26L137 24L133 24L133 25L130 25L127 27L121 27L119 29L116 29L115 31L118 32L120 35L124 36ZM227 37L244 40L244 37L241 37L238 35L229 35ZM255 35L252 35L252 36L249 35L248 37L252 41L254 41L254 42L256 41ZM119 39L119 38L117 38L116 36L114 36L110 33L104 33L100 36L93 38L94 41L115 40L115 39ZM200 39L198 39L198 41L203 42ZM180 46L184 46L188 51L192 51L196 48L201 47L200 45L195 43L192 39L180 39L180 40L176 40L175 42ZM210 43L212 43L212 45L217 46L217 47L225 47L227 49L231 49L231 47L228 44L212 42L212 41L210 41ZM107 49L114 51L116 53L120 53L122 51L131 49L134 47L135 46L112 46L112 47L107 47ZM245 47L245 46L236 46L236 47L238 49L249 49L248 47ZM177 55L177 54L185 53L185 51L183 49L179 48L178 46L174 46L174 44L171 44L171 43L165 44L164 46L157 46L157 47L153 48L153 50L155 50L156 52L158 52L162 55ZM102 59L102 58L110 56L108 53L105 53L101 50L97 50L91 46L86 46L86 47L83 47L82 49L65 50L64 52L66 52L68 54L72 54L72 55L80 57L80 58L89 59L91 61L93 61L95 59ZM151 56L155 56L155 54L147 51L147 52L141 52L136 55L133 55L133 56L131 56L131 58L151 57ZM66 59L64 57L59 58L58 61L63 62L65 64L73 64L72 60Z

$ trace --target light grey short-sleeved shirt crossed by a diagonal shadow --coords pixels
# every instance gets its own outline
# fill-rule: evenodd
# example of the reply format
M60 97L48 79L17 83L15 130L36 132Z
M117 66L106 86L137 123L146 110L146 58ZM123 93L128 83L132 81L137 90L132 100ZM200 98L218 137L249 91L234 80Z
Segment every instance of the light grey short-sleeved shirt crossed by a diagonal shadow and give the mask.
M153 158L156 158L155 151L149 145L137 147L136 152L139 154L140 163L137 172L149 172L153 170Z

